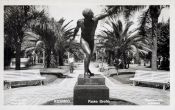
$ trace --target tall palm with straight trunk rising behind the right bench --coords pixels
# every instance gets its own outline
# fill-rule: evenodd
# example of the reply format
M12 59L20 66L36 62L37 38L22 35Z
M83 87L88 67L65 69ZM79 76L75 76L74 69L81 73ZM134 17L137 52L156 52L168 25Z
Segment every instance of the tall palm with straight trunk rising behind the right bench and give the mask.
M146 36L148 37L149 37L149 34L151 33L152 70L157 70L158 35L160 34L160 31L158 31L159 30L158 18L161 14L162 9L164 8L169 8L169 6L162 6L162 5L148 6L140 18L140 21L141 21L140 29L142 30L142 33L144 35L147 34ZM151 29L145 29L146 25L151 25ZM151 31L146 32L146 30L151 30Z

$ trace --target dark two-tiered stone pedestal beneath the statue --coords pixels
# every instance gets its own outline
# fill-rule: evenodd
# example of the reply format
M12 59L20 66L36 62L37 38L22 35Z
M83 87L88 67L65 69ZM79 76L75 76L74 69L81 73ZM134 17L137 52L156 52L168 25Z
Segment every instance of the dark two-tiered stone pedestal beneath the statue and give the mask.
M74 87L74 105L109 105L109 88L105 78L95 74L90 78L80 74Z

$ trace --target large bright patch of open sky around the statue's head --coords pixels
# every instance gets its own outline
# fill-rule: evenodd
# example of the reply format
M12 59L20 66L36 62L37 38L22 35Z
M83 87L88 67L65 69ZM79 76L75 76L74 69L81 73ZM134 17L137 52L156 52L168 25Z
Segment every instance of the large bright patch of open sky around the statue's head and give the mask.
M82 11L85 8L90 8L94 15L100 14L104 6L100 5L59 5L48 6L48 13L50 17L59 20L64 17L67 21L73 20L72 25L75 26L78 19L83 18Z

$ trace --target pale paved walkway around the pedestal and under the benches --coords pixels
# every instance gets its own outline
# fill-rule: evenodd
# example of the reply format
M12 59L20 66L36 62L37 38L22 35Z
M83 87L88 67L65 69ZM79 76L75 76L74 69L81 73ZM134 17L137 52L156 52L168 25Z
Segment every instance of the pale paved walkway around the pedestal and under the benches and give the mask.
M91 64L90 68L95 74L102 74L93 64ZM74 73L68 74L69 77L61 82L58 79L55 82L44 86L21 87L4 90L4 104L40 105L54 99L73 97L73 88L79 74L83 74L83 65L79 65ZM111 98L122 99L139 105L169 104L169 91L148 87L133 87L111 81L107 77L105 78L106 85L110 90Z

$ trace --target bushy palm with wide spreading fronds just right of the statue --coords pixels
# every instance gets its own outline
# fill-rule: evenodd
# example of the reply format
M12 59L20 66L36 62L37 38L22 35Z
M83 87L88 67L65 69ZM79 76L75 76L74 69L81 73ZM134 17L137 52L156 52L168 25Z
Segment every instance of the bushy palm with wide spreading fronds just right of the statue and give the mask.
M140 35L138 29L129 30L132 22L127 22L123 28L123 23L114 17L106 24L108 28L98 35L104 41L102 47L113 52L117 59L122 59L124 68L130 57L135 57L137 53L145 55L150 51L147 38Z

